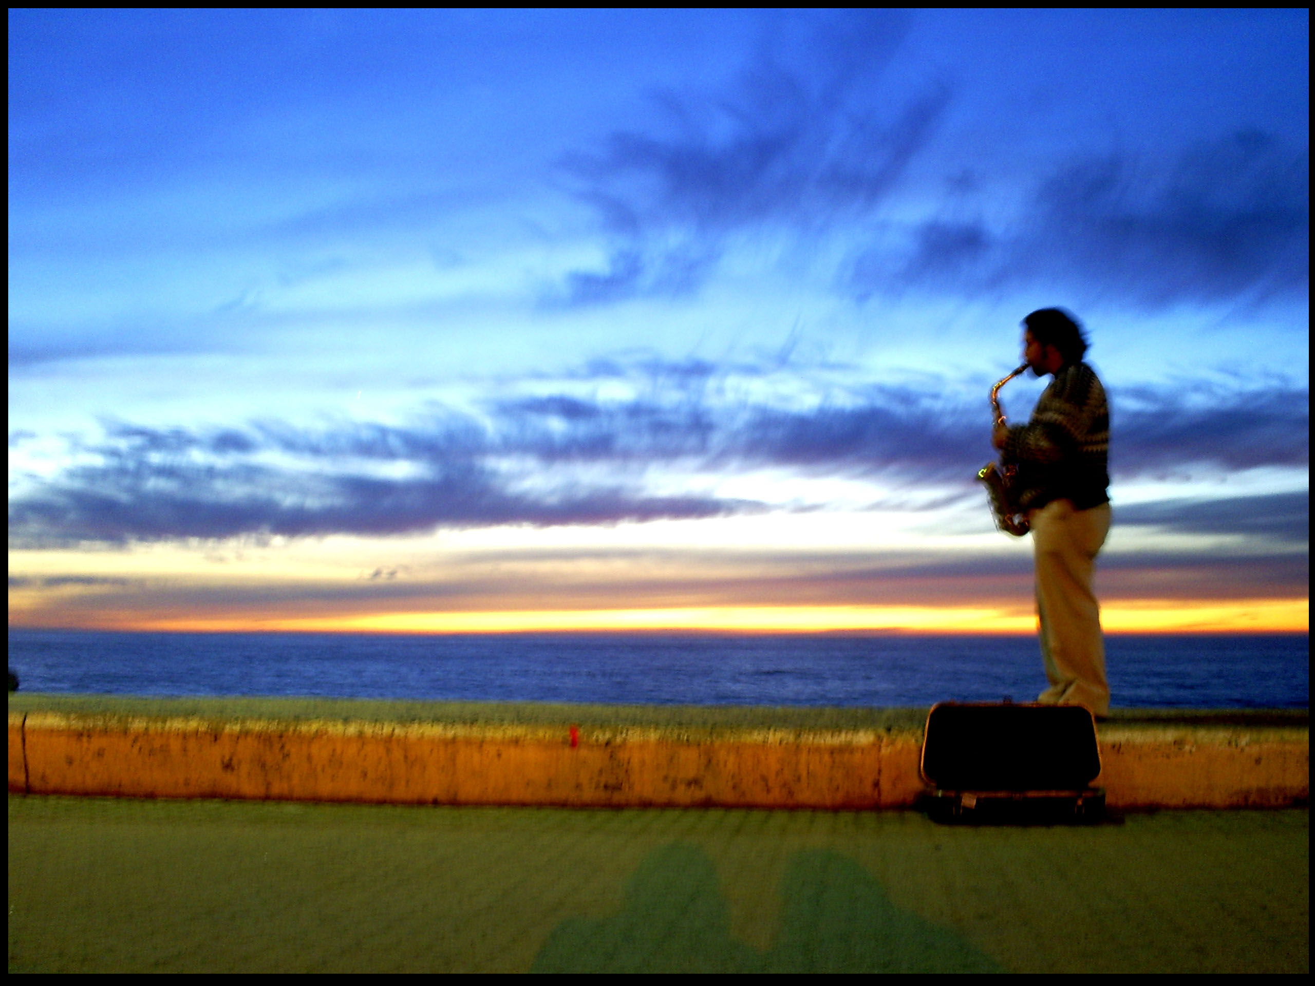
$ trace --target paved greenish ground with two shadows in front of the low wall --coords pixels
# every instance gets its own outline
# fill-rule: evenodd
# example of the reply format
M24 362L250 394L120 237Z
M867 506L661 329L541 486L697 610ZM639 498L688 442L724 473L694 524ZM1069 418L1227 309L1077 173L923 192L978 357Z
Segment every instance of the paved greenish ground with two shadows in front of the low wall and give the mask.
M9 798L9 972L1306 972L1308 812Z

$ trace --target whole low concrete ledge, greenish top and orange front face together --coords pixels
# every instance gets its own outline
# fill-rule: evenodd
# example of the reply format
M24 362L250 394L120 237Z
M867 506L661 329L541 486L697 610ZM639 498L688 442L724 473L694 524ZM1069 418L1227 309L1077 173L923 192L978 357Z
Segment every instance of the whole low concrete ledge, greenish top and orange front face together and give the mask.
M920 709L12 695L9 790L417 805L911 806ZM1114 807L1310 797L1310 716L1118 711Z

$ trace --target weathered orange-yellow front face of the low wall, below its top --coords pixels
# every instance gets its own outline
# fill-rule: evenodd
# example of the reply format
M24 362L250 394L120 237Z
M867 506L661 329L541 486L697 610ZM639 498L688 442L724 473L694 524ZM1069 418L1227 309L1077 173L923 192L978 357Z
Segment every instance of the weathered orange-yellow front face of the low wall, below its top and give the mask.
M259 722L11 713L9 789L34 794L439 805L911 806L914 731ZM1306 728L1123 726L1101 732L1115 807L1304 802Z

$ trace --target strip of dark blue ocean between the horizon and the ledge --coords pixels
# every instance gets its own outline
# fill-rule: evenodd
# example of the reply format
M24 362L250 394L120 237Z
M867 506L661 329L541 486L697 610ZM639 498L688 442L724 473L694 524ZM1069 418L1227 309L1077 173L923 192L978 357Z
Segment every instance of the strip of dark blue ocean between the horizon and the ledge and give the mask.
M1310 705L1308 635L1110 636L1115 707ZM1034 699L1032 638L760 634L108 634L11 630L24 692L930 706Z

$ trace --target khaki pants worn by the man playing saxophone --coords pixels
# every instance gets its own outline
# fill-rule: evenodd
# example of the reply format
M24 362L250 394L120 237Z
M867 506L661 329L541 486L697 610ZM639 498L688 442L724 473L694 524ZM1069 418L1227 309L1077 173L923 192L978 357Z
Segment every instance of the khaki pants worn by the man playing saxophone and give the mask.
M1110 713L1101 607L1091 588L1095 555L1110 532L1110 505L1074 510L1055 500L1028 518L1036 556L1036 614L1041 660L1051 686L1038 702L1084 705Z

